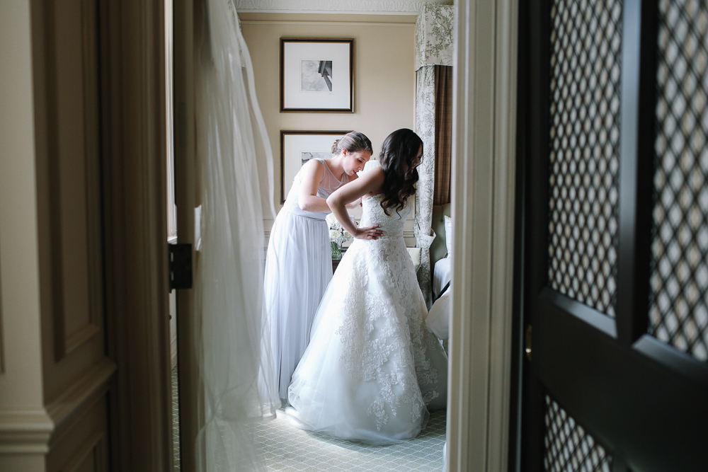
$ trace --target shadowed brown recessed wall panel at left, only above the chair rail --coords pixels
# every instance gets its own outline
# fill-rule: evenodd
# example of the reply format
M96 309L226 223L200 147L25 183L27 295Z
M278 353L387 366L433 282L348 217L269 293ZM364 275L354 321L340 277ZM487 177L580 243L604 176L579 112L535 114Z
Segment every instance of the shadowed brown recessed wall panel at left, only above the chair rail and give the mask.
M96 0L35 6L45 401L105 357ZM45 138L45 139L41 139Z

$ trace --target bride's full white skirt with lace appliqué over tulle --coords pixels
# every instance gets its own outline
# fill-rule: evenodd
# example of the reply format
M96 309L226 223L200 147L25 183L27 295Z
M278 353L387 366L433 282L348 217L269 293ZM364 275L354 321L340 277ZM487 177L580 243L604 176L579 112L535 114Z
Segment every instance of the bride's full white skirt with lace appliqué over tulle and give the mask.
M292 376L291 421L368 444L416 437L447 396L447 357L426 315L403 238L355 241Z

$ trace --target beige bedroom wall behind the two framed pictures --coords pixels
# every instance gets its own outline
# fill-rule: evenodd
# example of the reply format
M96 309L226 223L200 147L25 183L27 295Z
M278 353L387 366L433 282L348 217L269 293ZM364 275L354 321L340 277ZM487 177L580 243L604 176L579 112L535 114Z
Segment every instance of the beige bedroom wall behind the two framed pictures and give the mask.
M390 132L402 127L415 129L415 16L239 16L273 148L276 210L280 209L281 129L355 129L371 139L374 158ZM280 113L280 38L354 39L354 113ZM285 185L287 193L290 183ZM263 177L261 189L267 195L268 183ZM272 224L267 205L264 200L266 231Z

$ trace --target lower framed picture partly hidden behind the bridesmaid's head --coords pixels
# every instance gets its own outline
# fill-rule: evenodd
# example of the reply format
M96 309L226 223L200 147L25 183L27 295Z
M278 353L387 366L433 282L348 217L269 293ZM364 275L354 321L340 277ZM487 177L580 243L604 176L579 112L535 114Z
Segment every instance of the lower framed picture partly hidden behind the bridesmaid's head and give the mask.
M280 132L280 204L285 203L292 180L302 165L313 158L329 159L332 144L348 131Z

